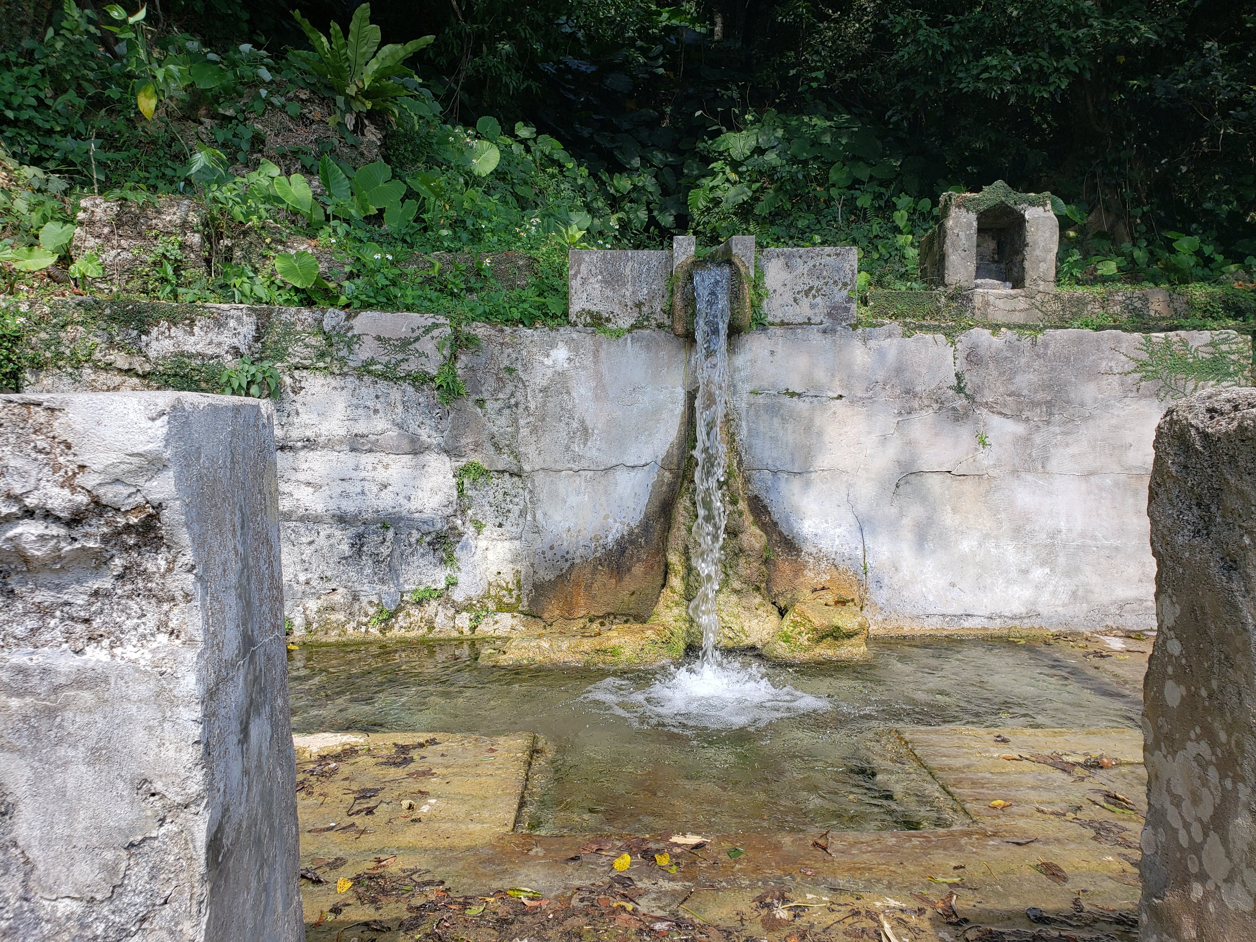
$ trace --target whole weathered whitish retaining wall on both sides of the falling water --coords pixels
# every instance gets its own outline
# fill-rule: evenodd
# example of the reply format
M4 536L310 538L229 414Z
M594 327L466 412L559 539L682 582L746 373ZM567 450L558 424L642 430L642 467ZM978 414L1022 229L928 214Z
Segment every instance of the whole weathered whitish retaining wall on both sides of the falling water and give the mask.
M423 379L447 329L431 318L224 309L161 334L206 344L217 324L235 344L250 323L289 337L275 435L298 634L658 620L690 474L683 339L480 325L480 349L458 358L467 394L442 406ZM879 631L1153 627L1145 492L1164 403L1130 374L1142 339L897 325L735 337L737 486L774 585L836 579ZM111 365L108 344L93 355L97 368L39 384L143 382Z

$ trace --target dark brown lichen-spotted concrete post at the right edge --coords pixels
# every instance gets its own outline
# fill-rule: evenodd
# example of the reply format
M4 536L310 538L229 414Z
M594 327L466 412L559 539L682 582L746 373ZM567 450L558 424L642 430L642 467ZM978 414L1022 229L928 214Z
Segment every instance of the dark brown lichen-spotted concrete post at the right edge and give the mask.
M1164 414L1148 512L1142 938L1256 938L1256 389Z

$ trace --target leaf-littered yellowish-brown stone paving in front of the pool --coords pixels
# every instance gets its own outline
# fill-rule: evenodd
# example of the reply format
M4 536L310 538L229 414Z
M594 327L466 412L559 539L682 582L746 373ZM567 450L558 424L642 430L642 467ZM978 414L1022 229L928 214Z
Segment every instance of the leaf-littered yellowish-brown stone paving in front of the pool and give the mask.
M649 928L658 933L696 931L717 939L782 939L790 933L801 937L805 931L809 938L836 942L875 938L882 918L892 922L892 932L902 933L898 938L917 942L953 942L960 932L967 938L1001 938L980 934L983 926L1051 932L1042 928L1049 919L1064 919L1048 924L1068 927L1070 937L1078 939L1132 938L1140 809L1104 808L1090 799L1110 804L1105 791L1139 794L1143 775L1137 730L914 727L902 730L902 736L943 789L963 795L968 818L958 826L702 834L708 843L692 850L669 842L669 831L599 840L515 833L451 850L443 842L411 838L388 843L371 855L352 847L324 848L315 843L323 834L306 833L303 863L327 880L304 887L309 938L334 939L343 933L343 939L350 926L379 919L389 928L401 924L404 932L420 934L425 927L441 924L442 932L475 942L525 934L549 942L603 927L629 937L633 929ZM995 736L1009 742L997 742ZM425 750L428 759L406 769L435 761L435 751ZM1068 766L1059 769L1020 755L1053 761L1056 756L1064 761L1091 759L1096 767L1070 772ZM1103 767L1100 759L1109 760L1110 767ZM394 769L392 775L402 771ZM432 771L437 771L435 764ZM404 800L401 790L406 781L394 777L386 784L392 791L369 799L391 803L377 809L376 818L396 809L389 819L398 820L388 826L398 830L407 826L399 823L407 811L397 805L398 799ZM423 785L435 796L443 776L420 781L436 782ZM512 788L502 791L515 794ZM487 810L495 800L481 800L480 806ZM1007 805L991 808L993 800ZM465 813L474 806L466 806ZM418 808L422 805L411 814ZM320 826L340 816L333 815ZM382 826L365 816L349 820L362 821L359 828ZM425 816L413 829L426 826ZM376 839L373 834L362 838ZM741 852L736 857L728 854L734 848ZM631 864L620 874L612 869L612 862L623 853L629 854ZM661 853L668 854L666 862L656 858ZM1059 869L1053 872L1044 862ZM342 874L352 885L337 894ZM612 877L615 882L609 882ZM546 902L533 899L525 908L495 892L519 887L535 891ZM755 897L774 887L801 906L770 924L762 917L771 907L756 904ZM932 902L924 906L924 897L936 901L952 889L957 917L948 923ZM1074 903L1079 896L1084 899L1080 909ZM1026 918L1031 907L1042 911L1037 923ZM535 921L529 922L528 912L536 913ZM976 924L965 931L961 917ZM863 926L867 932L859 928Z

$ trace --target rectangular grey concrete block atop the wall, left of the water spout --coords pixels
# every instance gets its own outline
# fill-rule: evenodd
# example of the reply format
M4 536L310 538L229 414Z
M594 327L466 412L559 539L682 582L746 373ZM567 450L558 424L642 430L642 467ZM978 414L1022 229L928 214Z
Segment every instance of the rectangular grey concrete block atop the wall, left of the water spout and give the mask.
M571 249L568 318L582 327L669 327L667 278L672 252Z

